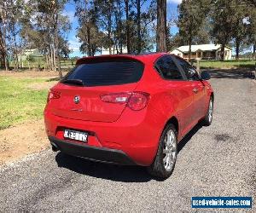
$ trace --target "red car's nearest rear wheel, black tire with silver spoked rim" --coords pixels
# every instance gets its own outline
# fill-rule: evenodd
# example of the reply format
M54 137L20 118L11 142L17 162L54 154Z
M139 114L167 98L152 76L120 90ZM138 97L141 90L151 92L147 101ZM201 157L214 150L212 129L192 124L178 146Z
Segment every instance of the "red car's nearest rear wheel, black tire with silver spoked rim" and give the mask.
M173 141L175 146L175 150L173 148L174 151L172 152L173 156L171 153L168 153L170 155L168 155L167 153L164 153L166 151L166 137L167 137L167 134L170 134L171 131L173 132L173 135L175 137ZM164 163L164 158L168 158L167 155L169 156L169 158L173 157L172 168L168 168L168 169L166 169L167 164ZM175 155L175 158L174 158L174 155ZM148 166L148 173L152 176L157 176L163 179L168 178L169 176L172 175L172 172L174 170L175 163L176 163L176 158L177 158L177 130L175 129L173 124L167 124L165 130L163 130L162 135L160 137L159 147L158 147L156 156L154 158L154 162L153 164Z

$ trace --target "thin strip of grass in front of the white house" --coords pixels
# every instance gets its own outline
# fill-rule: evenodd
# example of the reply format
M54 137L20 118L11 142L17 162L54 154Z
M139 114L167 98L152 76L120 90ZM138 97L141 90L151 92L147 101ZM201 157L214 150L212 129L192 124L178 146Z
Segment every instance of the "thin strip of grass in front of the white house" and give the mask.
M201 68L254 68L256 60L201 60Z

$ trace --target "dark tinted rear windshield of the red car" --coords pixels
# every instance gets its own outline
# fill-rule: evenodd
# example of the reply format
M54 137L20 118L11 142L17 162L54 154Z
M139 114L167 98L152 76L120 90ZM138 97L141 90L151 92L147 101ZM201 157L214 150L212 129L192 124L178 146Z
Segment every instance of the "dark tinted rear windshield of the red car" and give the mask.
M86 87L136 83L143 69L143 63L137 60L97 60L76 66L61 82L79 80Z

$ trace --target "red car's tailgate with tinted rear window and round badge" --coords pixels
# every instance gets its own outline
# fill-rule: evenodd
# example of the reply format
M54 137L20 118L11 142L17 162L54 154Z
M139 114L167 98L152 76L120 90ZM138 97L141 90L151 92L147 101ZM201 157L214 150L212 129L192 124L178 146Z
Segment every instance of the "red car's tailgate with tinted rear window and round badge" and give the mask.
M103 102L101 96L132 92L143 69L142 62L131 59L85 60L55 86L61 98L50 101L49 110L63 118L114 122L125 104Z

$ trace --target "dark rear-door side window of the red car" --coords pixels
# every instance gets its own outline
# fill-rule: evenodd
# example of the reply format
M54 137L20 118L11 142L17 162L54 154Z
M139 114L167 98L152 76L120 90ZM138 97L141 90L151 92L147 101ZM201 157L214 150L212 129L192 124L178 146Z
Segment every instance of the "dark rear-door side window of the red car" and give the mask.
M157 60L156 68L165 79L183 80L181 72L179 72L177 66L169 56L164 56Z

